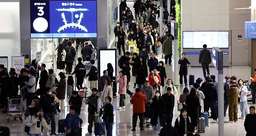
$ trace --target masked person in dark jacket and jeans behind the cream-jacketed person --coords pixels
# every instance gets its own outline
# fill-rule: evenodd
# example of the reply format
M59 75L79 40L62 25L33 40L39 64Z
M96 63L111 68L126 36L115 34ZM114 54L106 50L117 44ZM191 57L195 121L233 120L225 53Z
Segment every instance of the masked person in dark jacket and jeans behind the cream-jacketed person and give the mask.
M55 123L55 117L54 117L54 97L52 96L52 91L50 87L46 87L46 95L44 95L40 103L42 105L42 109L44 112L44 119L48 120L51 119L51 135L58 135L55 133L56 131L56 123ZM29 117L28 117L29 119Z

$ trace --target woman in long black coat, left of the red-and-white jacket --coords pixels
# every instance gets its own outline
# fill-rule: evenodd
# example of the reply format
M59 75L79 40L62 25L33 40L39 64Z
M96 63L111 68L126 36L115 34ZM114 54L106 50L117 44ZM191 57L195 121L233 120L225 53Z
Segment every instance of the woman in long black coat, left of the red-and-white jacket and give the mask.
M146 62L144 62L144 57L140 56L139 58L139 64L137 66L137 75L136 76L136 84L138 84L138 88L142 87L142 84L145 83L146 77L148 76L147 73L147 65Z

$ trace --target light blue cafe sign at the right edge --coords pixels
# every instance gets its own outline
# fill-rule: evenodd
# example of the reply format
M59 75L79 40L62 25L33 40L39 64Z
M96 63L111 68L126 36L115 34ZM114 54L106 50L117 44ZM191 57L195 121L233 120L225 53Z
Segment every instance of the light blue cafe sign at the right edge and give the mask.
M245 21L244 23L244 37L247 39L256 38L256 22Z

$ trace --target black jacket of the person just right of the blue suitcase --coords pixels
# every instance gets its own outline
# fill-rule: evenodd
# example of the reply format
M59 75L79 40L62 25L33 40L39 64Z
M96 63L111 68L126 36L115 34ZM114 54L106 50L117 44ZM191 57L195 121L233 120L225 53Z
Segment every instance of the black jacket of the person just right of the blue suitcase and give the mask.
M105 123L114 122L113 106L111 103L104 105L103 121Z

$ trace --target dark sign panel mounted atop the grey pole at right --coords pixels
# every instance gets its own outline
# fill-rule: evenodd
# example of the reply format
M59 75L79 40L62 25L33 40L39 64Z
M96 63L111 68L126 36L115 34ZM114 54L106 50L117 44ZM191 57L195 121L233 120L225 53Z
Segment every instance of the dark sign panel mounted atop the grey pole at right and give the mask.
M223 51L218 47L212 47L212 64L218 71L223 70Z

